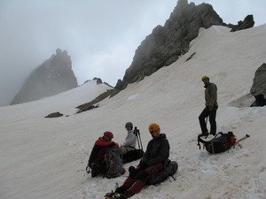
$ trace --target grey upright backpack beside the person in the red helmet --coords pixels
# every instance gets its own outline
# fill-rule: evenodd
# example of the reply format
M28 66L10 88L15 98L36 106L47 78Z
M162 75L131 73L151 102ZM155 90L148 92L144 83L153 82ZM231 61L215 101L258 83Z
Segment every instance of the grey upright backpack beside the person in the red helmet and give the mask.
M122 161L119 154L119 149L108 149L106 151L104 162L106 164L106 177L116 178L124 173L122 168Z

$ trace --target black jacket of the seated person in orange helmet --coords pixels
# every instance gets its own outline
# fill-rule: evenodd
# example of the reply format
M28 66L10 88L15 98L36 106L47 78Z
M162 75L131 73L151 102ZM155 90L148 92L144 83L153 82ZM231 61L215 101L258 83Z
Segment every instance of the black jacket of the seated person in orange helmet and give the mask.
M147 166L164 163L169 157L169 142L166 139L166 134L160 134L159 137L154 137L148 145L144 157L141 162L147 163Z

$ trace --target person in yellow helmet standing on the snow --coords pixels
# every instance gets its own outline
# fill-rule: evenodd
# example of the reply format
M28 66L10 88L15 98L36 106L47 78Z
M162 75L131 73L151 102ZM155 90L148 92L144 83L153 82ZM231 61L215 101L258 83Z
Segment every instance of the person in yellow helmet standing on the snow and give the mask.
M210 134L216 134L216 111L218 109L217 103L217 87L214 83L209 82L209 78L207 75L204 75L201 80L204 83L205 88L205 108L200 113L199 120L200 120L200 128L201 134L200 136L207 136L207 123L205 119L209 117L210 123Z

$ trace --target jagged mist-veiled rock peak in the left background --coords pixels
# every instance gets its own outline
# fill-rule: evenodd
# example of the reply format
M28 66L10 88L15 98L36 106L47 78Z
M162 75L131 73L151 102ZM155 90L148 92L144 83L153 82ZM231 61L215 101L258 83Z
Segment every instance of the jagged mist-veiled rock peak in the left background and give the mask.
M71 57L67 55L66 50L58 49L55 55L30 73L11 104L53 96L77 86Z

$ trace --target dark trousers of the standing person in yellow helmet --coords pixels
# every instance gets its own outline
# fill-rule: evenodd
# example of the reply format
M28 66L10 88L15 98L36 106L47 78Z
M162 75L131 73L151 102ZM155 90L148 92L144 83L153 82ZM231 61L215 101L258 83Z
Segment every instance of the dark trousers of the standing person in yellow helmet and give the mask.
M206 133L207 131L207 122L205 122L205 119L209 117L209 124L210 124L210 134L215 135L216 134L216 111L218 107L215 106L212 111L209 111L207 108L205 108L199 116L200 120L200 128L201 133Z

